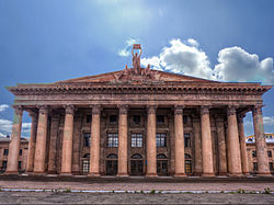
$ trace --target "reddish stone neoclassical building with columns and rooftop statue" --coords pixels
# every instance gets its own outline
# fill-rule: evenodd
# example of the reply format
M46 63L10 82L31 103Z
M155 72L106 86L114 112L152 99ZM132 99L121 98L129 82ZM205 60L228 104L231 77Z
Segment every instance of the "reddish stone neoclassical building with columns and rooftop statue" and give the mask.
M134 49L140 49L134 45ZM258 174L269 175L260 83L217 82L140 67L8 88L15 95L7 174L18 173L23 111L34 174L243 175L243 117L253 113Z

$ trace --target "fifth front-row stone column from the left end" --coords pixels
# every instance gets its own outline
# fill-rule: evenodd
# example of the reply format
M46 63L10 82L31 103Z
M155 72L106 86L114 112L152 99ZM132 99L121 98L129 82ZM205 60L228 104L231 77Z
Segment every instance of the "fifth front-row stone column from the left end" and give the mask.
M127 105L119 105L118 175L127 176Z

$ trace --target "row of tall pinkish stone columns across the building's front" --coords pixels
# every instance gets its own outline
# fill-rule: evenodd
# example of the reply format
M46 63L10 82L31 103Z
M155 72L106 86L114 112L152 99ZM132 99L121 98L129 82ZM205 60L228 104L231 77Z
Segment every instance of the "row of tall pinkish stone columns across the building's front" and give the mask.
M184 176L184 126L183 111L184 106L174 105L174 153L175 171L174 176ZM73 115L76 107L66 105L62 155L61 155L61 174L71 174L72 170L72 144L73 144ZM90 145L90 176L100 175L100 116L101 106L92 105L91 123L91 145ZM128 105L119 105L118 122L118 173L119 176L128 175L127 171L127 112ZM195 160L194 170L201 172L204 176L214 176L213 147L209 107L201 106L201 119L193 119L195 137L195 157L201 157L202 169ZM147 176L157 176L157 146L156 146L156 105L147 106ZM266 144L263 137L262 106L253 106L254 135L258 155L258 174L269 175L269 162L266 156ZM12 135L10 143L10 155L8 159L8 174L18 173L18 159L20 150L21 127L22 127L21 106L14 106L14 119L12 125ZM41 106L38 114L31 113L32 127L28 144L27 172L45 173L46 158L46 138L48 129L48 106ZM237 115L235 106L227 107L227 134L224 128L224 118L216 121L219 149L219 174L242 175L249 172L248 157L246 148L246 138L243 132L243 115ZM202 141L199 141L199 133ZM227 141L225 140L227 135ZM50 136L52 137L52 136ZM55 137L56 138L56 137ZM55 139L56 140L56 139ZM52 144L52 143L50 143ZM202 150L201 150L202 148ZM226 156L226 149L227 156ZM50 152L49 158L56 158L56 152ZM198 158L197 158L198 159ZM227 163L227 160L228 163ZM48 171L54 164L48 164Z

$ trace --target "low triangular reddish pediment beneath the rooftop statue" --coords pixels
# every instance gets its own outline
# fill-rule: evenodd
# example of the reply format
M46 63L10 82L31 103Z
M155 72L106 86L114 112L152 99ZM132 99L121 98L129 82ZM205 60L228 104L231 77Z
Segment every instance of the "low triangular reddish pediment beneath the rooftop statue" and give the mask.
M164 72L159 70L141 68L140 75L134 73L133 69L124 69L114 72L106 72L95 76L87 76L82 78L75 78L58 82L123 82L123 81L161 81L161 82L216 82L212 80L190 77L185 75L178 75L171 72Z

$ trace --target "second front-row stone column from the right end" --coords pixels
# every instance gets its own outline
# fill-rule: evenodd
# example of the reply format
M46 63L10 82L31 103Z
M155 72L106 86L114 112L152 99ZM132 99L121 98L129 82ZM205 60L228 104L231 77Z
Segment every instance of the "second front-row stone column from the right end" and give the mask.
M241 153L240 153L238 123L237 123L235 106L228 106L227 123L228 123L227 126L228 126L228 141L229 141L228 152L231 159L231 163L229 164L229 174L240 175L242 174Z

